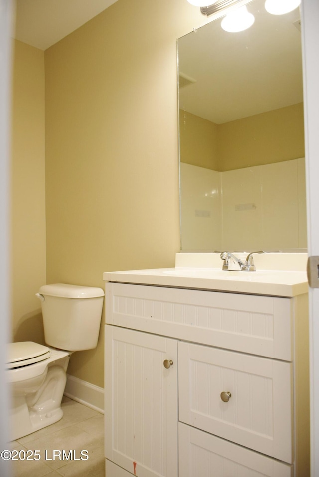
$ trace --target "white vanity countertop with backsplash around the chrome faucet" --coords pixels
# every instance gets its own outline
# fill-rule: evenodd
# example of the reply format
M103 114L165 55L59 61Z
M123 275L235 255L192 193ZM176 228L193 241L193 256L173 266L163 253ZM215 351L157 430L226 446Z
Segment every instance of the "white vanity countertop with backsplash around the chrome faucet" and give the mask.
M182 255L182 254L177 254ZM177 257L176 263L183 265L187 263L187 259ZM185 254L189 255L189 254ZM221 270L221 260L216 256L217 254L200 254L200 262L203 263L203 255L210 255L209 260L206 261L209 265L220 265L219 268L212 266L198 267L195 264L194 255L191 256L191 266L177 266L175 268L158 268L147 270L128 270L105 272L103 279L111 282L135 283L144 285L170 286L181 288L195 288L204 290L225 291L232 293L250 293L257 295L272 295L293 297L308 293L308 282L306 274L307 256L301 257L305 254L286 254L282 259L279 254L269 254L269 259L265 254L262 260L257 259L255 272L244 271L224 271ZM214 255L212 257L212 255ZM274 266L274 256L276 255L276 262L282 270L267 269L268 264ZM285 255L285 254L283 254ZM290 256L288 256L290 255ZM298 255L294 260L293 255ZM262 255L258 255L261 257ZM218 261L217 261L218 258ZM264 268L259 268L263 266ZM284 265L287 263L287 266ZM188 261L189 263L189 261ZM198 263L198 262L197 262ZM294 266L295 263L295 266ZM294 269L295 268L295 269Z

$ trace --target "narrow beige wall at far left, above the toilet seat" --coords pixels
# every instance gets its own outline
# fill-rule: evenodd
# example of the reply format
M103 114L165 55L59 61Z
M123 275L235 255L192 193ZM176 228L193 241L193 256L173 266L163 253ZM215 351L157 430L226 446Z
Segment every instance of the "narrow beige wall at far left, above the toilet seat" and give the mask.
M43 343L46 281L44 52L14 41L11 138L12 339Z

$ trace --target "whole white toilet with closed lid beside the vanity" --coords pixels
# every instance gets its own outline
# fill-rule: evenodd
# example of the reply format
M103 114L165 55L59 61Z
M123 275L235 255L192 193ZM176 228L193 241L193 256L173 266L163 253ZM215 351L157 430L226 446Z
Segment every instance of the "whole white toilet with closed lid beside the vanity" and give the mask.
M36 296L47 346L30 341L8 345L5 372L11 387L12 441L62 418L70 355L96 348L99 337L102 288L56 283L41 286Z

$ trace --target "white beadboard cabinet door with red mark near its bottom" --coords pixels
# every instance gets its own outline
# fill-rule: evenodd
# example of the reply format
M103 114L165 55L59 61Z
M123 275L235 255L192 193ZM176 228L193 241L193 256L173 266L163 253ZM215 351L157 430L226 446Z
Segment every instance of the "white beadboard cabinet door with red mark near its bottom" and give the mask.
M105 328L105 456L133 475L177 477L177 341Z

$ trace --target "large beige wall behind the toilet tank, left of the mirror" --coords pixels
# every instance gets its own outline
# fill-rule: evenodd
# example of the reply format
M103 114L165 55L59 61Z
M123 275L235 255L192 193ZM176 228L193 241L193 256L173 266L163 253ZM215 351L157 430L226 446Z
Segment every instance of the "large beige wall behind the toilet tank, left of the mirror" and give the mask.
M45 52L47 282L174 265L180 249L176 39L185 0L119 0ZM103 386L96 350L72 375Z

